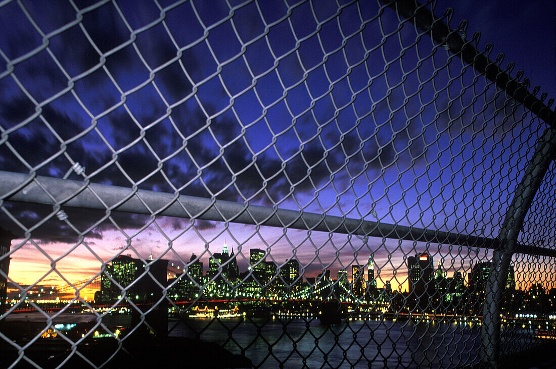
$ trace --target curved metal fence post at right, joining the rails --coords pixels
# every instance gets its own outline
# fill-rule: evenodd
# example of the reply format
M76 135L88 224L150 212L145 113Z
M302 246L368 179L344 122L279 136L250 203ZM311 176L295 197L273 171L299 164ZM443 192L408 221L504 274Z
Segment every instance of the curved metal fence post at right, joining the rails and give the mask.
M499 245L493 254L486 298L483 305L483 325L481 326L481 361L488 367L498 367L500 348L500 313L502 293L508 278L510 261L517 252L518 235L535 194L542 184L544 175L556 155L556 128L549 127L540 137L533 158L529 161L521 183L515 190L504 224L500 229Z

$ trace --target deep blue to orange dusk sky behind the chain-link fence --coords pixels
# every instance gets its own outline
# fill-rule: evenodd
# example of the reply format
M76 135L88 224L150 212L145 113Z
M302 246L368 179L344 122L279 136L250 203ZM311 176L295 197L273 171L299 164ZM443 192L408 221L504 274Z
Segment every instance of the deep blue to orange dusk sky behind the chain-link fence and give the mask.
M239 3L2 3L0 170L63 178L73 160L93 183L497 236L543 124L428 36L416 43L411 24L396 32L392 9L316 3L260 1L231 18ZM504 52L502 67L515 62L513 76L523 69L530 90L555 98L547 4L438 1L434 13L455 5L451 27L467 19L468 41L480 31L480 50L494 43L490 59ZM70 225L52 206L10 201L2 210L3 228L24 234L11 217L32 228L32 241L12 242L10 277L21 286L57 284L57 271L94 276L118 253L180 263L194 252L206 267L224 241L241 247L240 269L251 247L269 247L278 264L294 255L309 276L351 274L372 251L378 285L394 277L396 289L406 286L404 255L428 249L449 275L488 257L64 208ZM44 254L63 256L56 271Z

